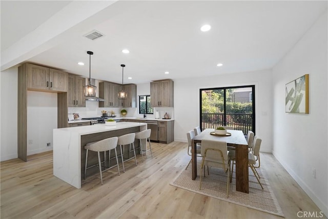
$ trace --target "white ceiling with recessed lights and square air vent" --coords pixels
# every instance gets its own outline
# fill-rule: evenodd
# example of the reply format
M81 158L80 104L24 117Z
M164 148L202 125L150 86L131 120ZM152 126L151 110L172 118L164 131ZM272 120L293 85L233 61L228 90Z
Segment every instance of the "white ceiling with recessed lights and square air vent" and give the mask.
M2 70L32 62L88 77L90 50L91 77L121 83L125 64L125 84L270 69L327 10L326 1L1 1L0 6ZM211 30L201 32L203 24ZM92 30L105 36L84 37ZM125 48L129 54L121 52Z

